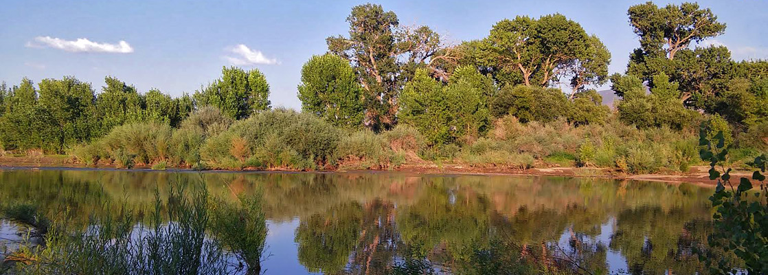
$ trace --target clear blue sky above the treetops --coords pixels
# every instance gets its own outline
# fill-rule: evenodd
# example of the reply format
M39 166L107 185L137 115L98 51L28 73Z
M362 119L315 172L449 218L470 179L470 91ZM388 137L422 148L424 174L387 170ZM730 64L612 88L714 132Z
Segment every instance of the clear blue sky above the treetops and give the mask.
M624 71L627 56L638 46L626 12L639 2L375 3L396 12L401 24L428 25L457 44L485 37L503 18L558 12L604 41L613 55L612 73ZM5 2L0 8L0 81L12 85L25 76L36 83L43 78L73 75L101 91L104 76L112 75L142 92L157 88L177 96L191 94L219 78L222 66L237 64L263 71L270 82L274 106L300 108L296 85L301 66L312 55L326 51L325 38L346 34L349 25L345 19L350 9L362 3ZM736 59L768 58L768 2L699 3L712 8L720 22L728 25L725 35L710 43L727 45ZM74 42L78 38L88 41ZM125 41L124 45L119 45L120 41ZM250 54L250 61L240 55L243 53ZM262 64L253 65L253 61Z

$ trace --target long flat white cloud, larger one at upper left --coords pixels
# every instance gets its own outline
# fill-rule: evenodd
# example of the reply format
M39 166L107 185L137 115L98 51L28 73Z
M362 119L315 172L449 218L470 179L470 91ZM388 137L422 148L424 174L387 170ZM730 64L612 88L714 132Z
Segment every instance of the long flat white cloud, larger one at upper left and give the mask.
M98 43L88 40L88 38L78 38L78 40L64 40L61 38L51 38L50 36L38 36L35 41L27 42L30 48L58 48L60 50L71 52L106 52L116 54L128 54L134 52L134 48L126 41L119 41L118 44Z

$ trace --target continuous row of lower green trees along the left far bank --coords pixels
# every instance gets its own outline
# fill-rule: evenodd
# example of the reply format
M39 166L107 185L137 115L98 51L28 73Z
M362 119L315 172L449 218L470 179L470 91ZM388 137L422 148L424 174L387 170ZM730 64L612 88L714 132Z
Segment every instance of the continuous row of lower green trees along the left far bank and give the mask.
M178 127L191 111L220 108L230 118L247 118L270 108L269 84L257 69L223 68L222 78L192 96L172 98L157 89L139 93L133 85L108 76L100 93L74 77L28 78L0 85L0 146L5 150L43 149L64 153L75 144L108 134L113 128L149 121Z

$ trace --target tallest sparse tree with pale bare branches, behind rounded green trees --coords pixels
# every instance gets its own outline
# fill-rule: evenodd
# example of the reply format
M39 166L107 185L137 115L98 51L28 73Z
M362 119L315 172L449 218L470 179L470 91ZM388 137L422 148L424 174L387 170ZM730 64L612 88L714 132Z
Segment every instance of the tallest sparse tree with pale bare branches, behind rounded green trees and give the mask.
M349 61L363 89L365 121L375 131L396 124L398 98L416 68L449 59L439 35L430 28L400 27L394 12L381 5L358 5L346 18L349 36L326 39L328 51ZM436 63L436 62L434 62Z

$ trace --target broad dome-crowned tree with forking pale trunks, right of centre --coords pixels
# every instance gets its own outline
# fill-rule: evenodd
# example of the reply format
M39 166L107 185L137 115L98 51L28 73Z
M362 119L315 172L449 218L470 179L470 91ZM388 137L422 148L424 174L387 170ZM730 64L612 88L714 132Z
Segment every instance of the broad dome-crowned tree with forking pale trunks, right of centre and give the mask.
M598 63L607 61L604 57L598 61L598 55L604 55L604 48L600 47L599 39L591 39L581 25L563 15L545 15L538 19L518 16L493 26L481 45L480 57L496 81L504 85L546 87L573 66L581 67L570 71L578 71L581 75L578 79L586 83L586 71L601 74L602 65ZM581 61L577 62L579 58ZM590 64L590 59L595 62Z

